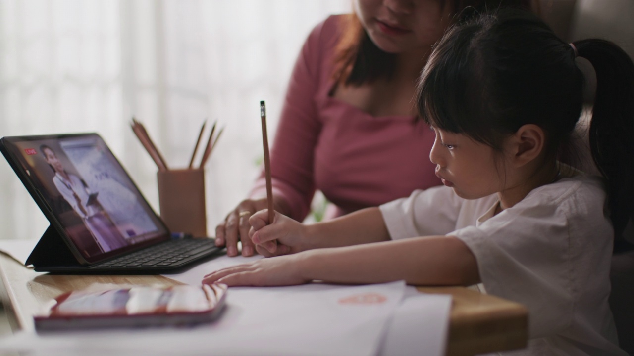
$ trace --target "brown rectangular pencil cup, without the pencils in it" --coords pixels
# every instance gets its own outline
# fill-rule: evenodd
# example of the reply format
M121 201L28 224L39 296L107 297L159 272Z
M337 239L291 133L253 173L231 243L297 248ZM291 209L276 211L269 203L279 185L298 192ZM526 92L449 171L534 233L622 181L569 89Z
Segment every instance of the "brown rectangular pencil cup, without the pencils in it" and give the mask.
M207 236L204 170L159 170L157 180L160 216L169 230Z

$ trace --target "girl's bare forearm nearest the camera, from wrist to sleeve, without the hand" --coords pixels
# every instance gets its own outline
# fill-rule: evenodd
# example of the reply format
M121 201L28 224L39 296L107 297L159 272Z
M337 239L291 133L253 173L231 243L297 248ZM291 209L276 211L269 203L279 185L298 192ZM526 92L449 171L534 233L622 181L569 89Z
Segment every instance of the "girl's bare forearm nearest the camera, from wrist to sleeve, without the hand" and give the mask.
M475 256L460 239L425 236L308 251L298 269L306 281L438 285L479 283Z

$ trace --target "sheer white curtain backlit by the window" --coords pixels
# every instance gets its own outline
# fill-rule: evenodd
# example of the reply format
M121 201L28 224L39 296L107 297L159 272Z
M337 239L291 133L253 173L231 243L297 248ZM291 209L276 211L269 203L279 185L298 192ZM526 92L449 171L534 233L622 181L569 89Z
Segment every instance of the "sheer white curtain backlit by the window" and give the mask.
M205 118L225 127L206 165L210 234L247 194L302 42L350 0L0 0L0 136L98 132L158 211L157 167L129 127L145 124L171 167ZM0 238L48 221L0 159Z

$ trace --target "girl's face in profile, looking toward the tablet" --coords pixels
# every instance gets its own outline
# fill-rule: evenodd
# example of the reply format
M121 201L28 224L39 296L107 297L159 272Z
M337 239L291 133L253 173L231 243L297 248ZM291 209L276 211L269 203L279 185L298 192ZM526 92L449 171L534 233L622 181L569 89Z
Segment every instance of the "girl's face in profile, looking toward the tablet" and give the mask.
M436 164L436 175L445 186L465 199L482 198L504 190L505 182L500 176L505 174L505 165L498 152L463 134L434 130L436 141L429 159Z

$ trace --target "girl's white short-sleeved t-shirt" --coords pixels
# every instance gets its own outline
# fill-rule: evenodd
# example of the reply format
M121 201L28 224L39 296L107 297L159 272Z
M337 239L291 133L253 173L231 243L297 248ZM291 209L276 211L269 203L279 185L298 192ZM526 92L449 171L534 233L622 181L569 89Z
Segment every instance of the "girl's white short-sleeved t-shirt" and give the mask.
M477 260L480 289L527 307L529 345L505 355L626 355L607 302L613 232L604 202L602 182L578 176L495 216L497 194L465 200L444 186L380 210L392 239L461 239Z

